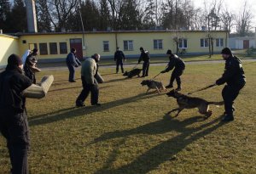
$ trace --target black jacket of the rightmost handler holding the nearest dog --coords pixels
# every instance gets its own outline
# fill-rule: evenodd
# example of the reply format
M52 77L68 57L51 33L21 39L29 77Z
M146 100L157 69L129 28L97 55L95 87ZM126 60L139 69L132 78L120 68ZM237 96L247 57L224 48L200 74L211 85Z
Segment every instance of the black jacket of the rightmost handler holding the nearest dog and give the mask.
M216 81L217 85L227 83L231 86L244 85L246 77L241 65L241 59L236 56L230 56L226 59L224 74Z

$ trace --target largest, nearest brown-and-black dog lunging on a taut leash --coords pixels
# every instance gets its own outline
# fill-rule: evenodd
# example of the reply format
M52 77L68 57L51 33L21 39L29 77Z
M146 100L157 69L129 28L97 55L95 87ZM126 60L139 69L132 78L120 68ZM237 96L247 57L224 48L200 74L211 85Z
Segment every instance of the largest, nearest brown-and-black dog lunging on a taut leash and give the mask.
M171 114L172 112L177 110L177 115L183 109L193 109L198 108L200 114L205 115L206 118L212 115L212 110L209 110L209 104L221 105L224 102L207 102L207 100L202 98L194 98L184 95L182 93L178 93L176 90L172 90L169 93L166 93L168 97L176 98L177 99L177 109L172 109L167 114ZM175 115L175 116L177 116Z

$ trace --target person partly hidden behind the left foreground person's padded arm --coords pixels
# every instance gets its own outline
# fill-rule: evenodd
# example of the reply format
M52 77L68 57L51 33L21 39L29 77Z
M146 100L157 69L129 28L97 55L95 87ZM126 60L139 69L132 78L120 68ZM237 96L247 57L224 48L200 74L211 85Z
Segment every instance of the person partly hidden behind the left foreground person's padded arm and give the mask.
M38 48L34 48L32 53L30 53L25 60L24 65L24 72L25 76L27 76L33 84L36 84L36 72L40 72L41 70L38 69L37 63L38 63Z

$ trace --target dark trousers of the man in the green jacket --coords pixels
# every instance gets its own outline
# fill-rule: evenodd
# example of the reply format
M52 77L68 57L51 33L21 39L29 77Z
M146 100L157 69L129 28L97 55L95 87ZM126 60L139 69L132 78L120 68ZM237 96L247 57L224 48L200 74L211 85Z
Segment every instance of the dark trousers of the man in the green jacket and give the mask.
M83 83L83 90L79 94L79 97L76 100L76 104L77 105L84 104L84 100L88 97L89 93L90 93L90 104L91 105L98 104L99 86L96 79L94 79L94 84L88 84L84 80L84 76L81 76L81 79Z

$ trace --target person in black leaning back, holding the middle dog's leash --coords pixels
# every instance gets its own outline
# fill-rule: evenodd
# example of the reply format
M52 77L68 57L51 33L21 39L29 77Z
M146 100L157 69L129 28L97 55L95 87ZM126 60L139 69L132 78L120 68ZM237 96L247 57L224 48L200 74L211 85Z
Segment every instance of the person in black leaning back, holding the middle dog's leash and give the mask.
M181 90L181 79L180 76L182 76L183 71L185 70L185 63L182 59L177 57L176 54L172 54L172 50L168 49L166 53L169 57L169 63L167 65L166 70L162 70L161 73L166 73L174 68L172 71L172 76L170 79L169 85L166 86L166 88L172 88L173 87L173 81L177 81L177 91Z

